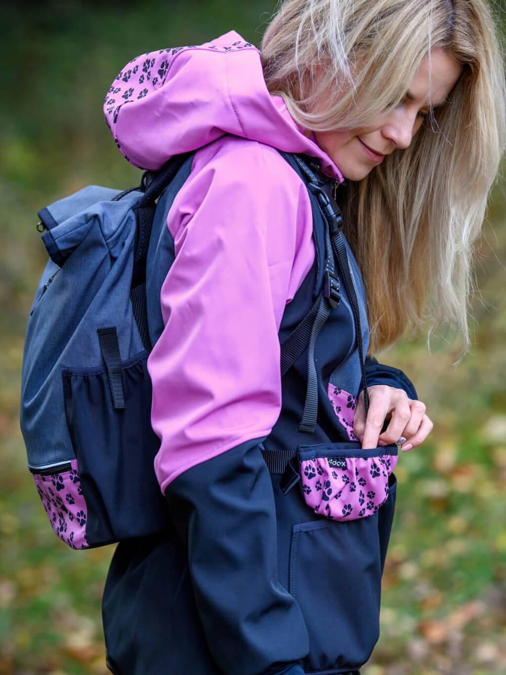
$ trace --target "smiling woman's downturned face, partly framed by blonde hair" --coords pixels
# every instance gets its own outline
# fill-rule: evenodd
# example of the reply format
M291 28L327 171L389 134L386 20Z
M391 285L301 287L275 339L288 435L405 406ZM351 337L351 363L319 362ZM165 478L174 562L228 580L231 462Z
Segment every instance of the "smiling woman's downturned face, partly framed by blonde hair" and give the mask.
M412 141L431 108L443 105L462 66L443 49L433 49L407 88L405 99L372 124L346 131L314 132L316 142L349 180L362 180L386 155Z

